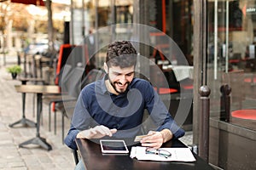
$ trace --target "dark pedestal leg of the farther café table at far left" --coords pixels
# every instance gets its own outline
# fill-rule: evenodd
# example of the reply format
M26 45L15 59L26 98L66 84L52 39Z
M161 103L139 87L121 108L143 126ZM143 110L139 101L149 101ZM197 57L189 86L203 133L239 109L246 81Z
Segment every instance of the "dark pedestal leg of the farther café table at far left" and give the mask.
M27 127L27 126L28 127L36 127L36 123L27 119L25 116L26 93L22 93L21 95L22 95L22 118L17 122L9 124L9 127L14 127L16 124L21 124L22 127Z

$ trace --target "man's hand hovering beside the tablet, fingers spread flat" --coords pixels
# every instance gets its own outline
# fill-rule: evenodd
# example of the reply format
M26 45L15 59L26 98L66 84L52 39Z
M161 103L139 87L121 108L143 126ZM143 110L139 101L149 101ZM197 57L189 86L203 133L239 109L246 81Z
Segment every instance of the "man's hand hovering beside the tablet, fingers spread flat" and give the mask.
M109 129L108 127L105 127L103 125L96 126L90 129L83 130L78 133L77 138L78 139L100 139L104 136L112 136L113 133L116 133L117 129Z

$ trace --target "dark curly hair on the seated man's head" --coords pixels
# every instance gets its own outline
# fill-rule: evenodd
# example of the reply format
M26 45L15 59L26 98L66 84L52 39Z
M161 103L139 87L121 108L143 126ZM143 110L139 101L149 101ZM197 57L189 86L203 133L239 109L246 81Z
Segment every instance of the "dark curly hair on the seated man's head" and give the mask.
M130 67L137 64L137 51L129 41L116 41L108 45L106 63L108 67Z

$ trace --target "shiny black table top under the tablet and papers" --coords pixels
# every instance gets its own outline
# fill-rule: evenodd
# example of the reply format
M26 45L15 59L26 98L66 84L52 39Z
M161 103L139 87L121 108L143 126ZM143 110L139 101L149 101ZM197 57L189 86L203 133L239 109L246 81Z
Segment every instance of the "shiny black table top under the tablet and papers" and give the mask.
M126 155L108 154L102 155L102 150L98 142L93 142L88 139L76 139L79 147L81 159L88 170L90 169L213 169L201 157L194 154L195 162L162 162L162 161L138 161L132 159L130 153ZM162 147L186 147L179 140L171 140ZM131 146L128 147L131 150Z

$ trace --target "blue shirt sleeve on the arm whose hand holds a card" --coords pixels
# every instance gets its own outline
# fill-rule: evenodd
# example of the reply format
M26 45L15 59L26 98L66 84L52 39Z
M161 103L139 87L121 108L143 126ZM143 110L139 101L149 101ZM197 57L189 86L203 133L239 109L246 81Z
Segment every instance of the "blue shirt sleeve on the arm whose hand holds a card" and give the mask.
M145 88L144 88L145 89ZM146 93L146 105L148 113L157 126L157 131L169 129L173 134L173 139L178 139L184 135L184 130L177 125L172 118L170 112L166 109L166 105L160 99L160 96L149 85Z

